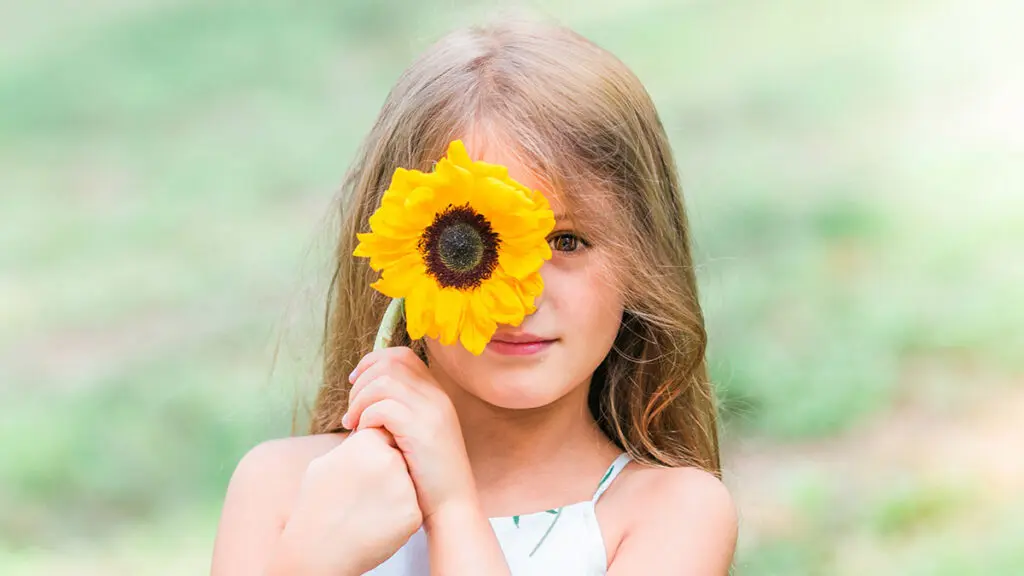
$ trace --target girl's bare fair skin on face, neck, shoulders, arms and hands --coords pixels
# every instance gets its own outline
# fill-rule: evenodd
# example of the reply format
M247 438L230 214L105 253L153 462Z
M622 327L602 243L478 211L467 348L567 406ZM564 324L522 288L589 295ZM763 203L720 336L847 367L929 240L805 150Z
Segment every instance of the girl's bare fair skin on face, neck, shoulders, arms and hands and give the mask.
M508 166L561 212L557 196L500 147L465 141L471 157ZM620 453L587 394L623 302L607 273L611 255L579 232L557 219L537 312L496 335L528 332L554 344L530 357L476 357L427 338L429 366L408 348L367 355L350 377L345 423L356 431L271 441L243 458L212 573L361 574L422 526L433 573L508 574L488 518L590 499ZM597 516L610 575L728 572L736 512L707 472L631 463Z

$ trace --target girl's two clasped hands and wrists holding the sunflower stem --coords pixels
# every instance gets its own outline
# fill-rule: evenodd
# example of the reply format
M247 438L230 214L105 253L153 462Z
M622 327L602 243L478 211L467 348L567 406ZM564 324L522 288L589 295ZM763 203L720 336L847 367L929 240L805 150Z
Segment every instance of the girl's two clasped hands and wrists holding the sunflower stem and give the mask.
M349 381L342 424L354 431L309 464L282 535L281 565L362 574L422 526L432 573L508 573L455 408L423 361L409 347L376 349Z

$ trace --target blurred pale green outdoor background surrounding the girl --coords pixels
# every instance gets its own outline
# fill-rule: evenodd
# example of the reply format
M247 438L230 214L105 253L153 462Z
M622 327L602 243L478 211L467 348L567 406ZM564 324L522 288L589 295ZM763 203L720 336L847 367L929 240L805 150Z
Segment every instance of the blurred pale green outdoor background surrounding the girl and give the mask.
M208 571L359 138L495 6L0 2L0 573ZM736 574L1024 573L1022 6L532 3L674 142Z

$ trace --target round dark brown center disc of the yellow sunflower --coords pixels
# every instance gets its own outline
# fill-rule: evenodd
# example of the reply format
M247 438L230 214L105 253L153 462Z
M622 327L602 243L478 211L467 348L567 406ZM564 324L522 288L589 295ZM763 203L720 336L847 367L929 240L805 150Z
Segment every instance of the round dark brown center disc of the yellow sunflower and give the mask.
M438 212L420 238L427 273L442 287L466 290L490 277L498 265L498 233L469 207L452 206Z

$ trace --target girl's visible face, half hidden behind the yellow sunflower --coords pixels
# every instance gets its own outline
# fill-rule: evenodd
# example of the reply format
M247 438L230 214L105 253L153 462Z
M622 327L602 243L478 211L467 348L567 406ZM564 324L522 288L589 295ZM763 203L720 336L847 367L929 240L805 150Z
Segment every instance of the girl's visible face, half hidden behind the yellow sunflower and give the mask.
M494 406L527 409L546 406L581 385L611 349L623 318L623 296L610 273L610 255L591 245L583 232L565 217L556 194L515 161L501 147L464 140L470 158L509 169L509 175L542 191L555 213L555 228L548 241L552 258L541 268L544 291L537 312L517 327L498 325L483 354L474 356L459 343L426 341L432 370L443 382ZM474 146L477 145L477 146ZM543 340L540 345L509 344ZM538 349L532 349L538 348Z

